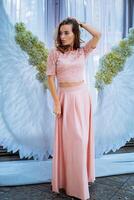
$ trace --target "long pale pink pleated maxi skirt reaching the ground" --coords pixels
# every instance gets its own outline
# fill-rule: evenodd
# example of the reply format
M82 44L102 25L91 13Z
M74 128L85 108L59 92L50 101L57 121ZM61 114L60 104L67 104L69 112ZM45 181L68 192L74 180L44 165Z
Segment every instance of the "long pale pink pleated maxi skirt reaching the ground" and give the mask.
M92 100L86 83L58 87L61 116L55 117L52 191L86 200L95 181Z

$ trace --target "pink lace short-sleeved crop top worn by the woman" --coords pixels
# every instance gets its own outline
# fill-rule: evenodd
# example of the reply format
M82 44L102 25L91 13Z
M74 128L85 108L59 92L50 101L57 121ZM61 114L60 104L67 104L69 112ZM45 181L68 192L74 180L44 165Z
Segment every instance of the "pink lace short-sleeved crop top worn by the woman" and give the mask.
M90 43L77 50L62 53L51 49L47 59L46 75L56 75L58 82L84 80L84 66L88 54L93 50Z

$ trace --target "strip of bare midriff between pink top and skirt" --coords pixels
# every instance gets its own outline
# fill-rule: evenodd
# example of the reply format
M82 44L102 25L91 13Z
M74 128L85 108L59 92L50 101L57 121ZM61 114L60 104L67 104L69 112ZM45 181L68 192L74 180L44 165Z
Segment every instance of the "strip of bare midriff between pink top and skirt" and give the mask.
M62 81L58 82L59 87L73 87L73 86L78 86L84 83L84 80L80 81Z

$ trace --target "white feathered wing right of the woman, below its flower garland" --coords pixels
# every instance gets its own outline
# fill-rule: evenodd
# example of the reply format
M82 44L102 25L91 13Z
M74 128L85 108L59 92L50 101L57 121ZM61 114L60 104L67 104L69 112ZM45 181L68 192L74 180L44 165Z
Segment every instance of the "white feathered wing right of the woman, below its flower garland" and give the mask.
M94 129L96 157L134 138L134 55L112 84L99 92Z

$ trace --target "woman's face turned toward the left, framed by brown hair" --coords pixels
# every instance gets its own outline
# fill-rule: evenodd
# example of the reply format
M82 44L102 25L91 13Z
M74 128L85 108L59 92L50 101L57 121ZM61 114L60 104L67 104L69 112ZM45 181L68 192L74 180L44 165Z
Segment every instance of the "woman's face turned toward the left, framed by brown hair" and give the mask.
M60 40L62 45L74 44L74 33L72 32L72 24L65 24L60 27Z

